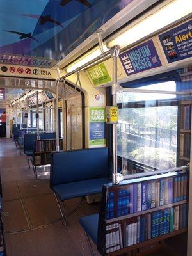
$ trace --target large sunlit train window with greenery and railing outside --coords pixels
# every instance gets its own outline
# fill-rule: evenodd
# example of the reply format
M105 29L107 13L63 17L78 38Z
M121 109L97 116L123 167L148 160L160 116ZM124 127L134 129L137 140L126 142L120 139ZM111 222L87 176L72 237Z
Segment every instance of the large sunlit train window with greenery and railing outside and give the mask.
M176 91L174 81L140 89ZM118 97L118 156L125 174L135 173L130 163L144 170L163 170L177 165L176 95L121 93ZM131 166L131 167L130 167Z

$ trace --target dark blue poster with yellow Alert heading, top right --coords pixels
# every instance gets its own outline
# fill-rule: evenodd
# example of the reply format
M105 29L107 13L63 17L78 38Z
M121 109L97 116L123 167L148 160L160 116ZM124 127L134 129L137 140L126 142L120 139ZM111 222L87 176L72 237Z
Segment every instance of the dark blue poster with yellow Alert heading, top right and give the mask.
M159 35L159 40L168 63L190 58L192 56L192 20Z

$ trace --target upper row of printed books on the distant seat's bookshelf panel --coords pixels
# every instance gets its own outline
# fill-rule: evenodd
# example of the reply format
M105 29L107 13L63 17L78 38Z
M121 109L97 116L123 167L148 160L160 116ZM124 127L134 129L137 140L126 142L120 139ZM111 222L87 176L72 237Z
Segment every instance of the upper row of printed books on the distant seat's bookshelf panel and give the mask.
M60 148L62 148L63 141L60 140ZM55 151L56 140L36 140L35 152Z

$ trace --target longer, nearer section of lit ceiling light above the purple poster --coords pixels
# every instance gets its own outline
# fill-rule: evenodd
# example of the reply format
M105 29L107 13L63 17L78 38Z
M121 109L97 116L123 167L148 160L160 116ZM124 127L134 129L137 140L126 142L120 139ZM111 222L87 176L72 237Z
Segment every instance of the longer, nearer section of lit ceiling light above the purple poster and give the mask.
M166 4L163 8L148 16L147 18L138 22L138 24L132 26L127 31L118 35L108 46L120 45L121 48L130 45L145 36L150 35L158 31L165 26L168 26L175 20L179 20L182 17L192 12L191 0L175 0L169 4Z

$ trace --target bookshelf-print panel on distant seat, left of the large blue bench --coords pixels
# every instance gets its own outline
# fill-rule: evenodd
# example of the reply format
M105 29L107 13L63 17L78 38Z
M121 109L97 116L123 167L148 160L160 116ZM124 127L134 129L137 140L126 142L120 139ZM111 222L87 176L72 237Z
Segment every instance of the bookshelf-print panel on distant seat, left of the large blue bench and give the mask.
M63 149L63 139L59 140L60 150ZM33 165L51 164L51 152L56 151L56 139L35 140L33 150Z

